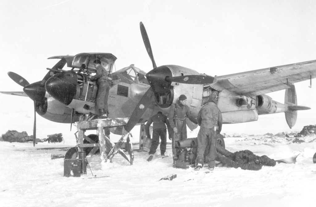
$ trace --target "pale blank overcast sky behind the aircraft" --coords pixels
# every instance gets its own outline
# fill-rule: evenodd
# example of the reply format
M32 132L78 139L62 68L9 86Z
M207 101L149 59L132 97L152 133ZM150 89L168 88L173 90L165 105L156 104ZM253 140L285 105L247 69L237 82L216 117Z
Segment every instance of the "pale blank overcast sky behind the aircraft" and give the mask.
M214 76L316 59L315 1L11 0L1 1L0 10L0 91L22 90L8 71L29 83L41 80L58 61L47 60L55 55L108 52L118 58L116 70L135 64L149 72L140 21L157 66L180 65ZM298 112L294 129L316 124L315 81L312 89L309 81L295 84L298 105L312 109ZM284 102L284 91L268 95ZM2 109L15 111L21 104L9 95L0 97ZM33 101L19 100L33 112ZM282 113L225 125L223 131L262 129L263 124L289 129Z

